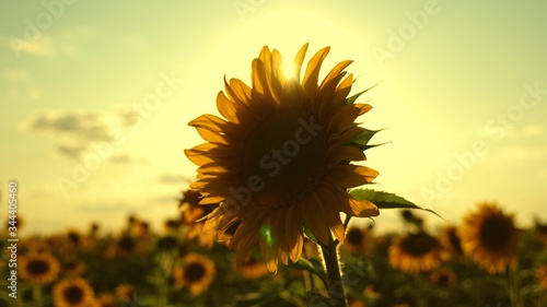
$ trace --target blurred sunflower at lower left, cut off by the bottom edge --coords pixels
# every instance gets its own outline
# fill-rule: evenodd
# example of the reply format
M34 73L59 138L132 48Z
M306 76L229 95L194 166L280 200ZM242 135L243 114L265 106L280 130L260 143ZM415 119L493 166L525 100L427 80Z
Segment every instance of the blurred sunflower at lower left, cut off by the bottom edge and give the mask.
M65 279L53 290L56 307L91 307L95 304L93 288L80 278Z

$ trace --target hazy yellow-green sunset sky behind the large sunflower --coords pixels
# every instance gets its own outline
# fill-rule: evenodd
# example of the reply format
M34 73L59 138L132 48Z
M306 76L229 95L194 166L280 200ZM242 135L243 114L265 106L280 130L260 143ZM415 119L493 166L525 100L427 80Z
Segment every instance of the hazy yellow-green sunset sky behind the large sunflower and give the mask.
M249 83L265 45L330 46L384 129L376 190L458 223L481 201L547 222L545 1L2 1L0 221L19 184L22 232L160 227L196 174L188 127L218 115L223 78ZM377 227L400 225L382 211ZM446 223L423 214L431 225ZM431 221L431 222L430 222Z

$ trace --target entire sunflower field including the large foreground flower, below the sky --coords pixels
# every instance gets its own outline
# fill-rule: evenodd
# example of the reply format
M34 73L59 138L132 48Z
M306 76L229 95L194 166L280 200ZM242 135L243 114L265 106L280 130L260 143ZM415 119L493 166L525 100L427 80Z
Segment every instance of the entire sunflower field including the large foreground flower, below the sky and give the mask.
M263 47L251 86L224 80L223 118L189 122L205 140L185 151L197 176L163 229L130 215L117 233L93 224L16 245L4 229L0 307L547 307L547 225L520 228L479 202L432 229L435 212L362 188L380 174L362 164L380 130L356 121L370 88L348 96L350 60L319 82L329 47L301 78L307 47L292 76ZM375 231L381 210L401 210L397 233Z

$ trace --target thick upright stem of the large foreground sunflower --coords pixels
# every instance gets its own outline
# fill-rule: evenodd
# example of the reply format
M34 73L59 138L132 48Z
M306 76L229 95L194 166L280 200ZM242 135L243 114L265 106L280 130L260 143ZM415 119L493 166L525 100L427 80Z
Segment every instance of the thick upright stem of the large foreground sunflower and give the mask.
M346 293L340 274L340 264L338 263L338 252L336 250L338 240L333 239L333 235L328 235L328 246L321 245L323 259L325 260L325 269L327 271L327 290L328 297L333 306L347 307Z

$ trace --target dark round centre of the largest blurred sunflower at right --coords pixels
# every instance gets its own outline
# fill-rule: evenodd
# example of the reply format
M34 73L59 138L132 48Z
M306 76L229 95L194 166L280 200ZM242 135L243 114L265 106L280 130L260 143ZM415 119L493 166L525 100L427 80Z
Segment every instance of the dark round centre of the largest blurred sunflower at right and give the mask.
M503 250L511 239L512 229L511 221L499 215L489 216L480 227L480 241L489 250Z

